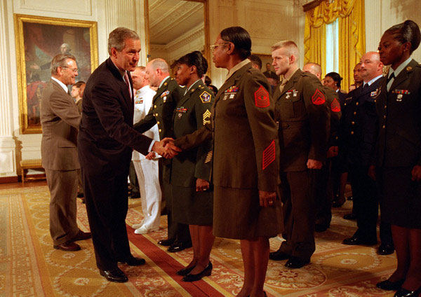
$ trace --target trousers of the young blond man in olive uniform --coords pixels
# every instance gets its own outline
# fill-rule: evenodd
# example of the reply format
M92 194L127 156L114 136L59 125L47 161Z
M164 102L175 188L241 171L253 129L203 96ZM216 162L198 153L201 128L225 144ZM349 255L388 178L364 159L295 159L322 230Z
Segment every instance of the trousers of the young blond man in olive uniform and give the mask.
M279 251L309 260L316 249L314 243L314 172L281 172L281 200L285 227Z

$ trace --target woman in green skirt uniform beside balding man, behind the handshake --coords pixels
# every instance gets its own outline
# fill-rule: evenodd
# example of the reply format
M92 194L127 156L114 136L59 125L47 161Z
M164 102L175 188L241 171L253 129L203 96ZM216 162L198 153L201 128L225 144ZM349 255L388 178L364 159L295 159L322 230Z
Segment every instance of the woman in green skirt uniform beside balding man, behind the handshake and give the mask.
M208 62L199 51L175 61L175 79L184 96L178 102L173 118L174 137L182 137L210 123L213 92L201 80L208 70ZM213 191L209 184L212 167L212 141L182 151L171 163L171 192L173 220L189 225L194 256L186 268L179 270L183 281L194 282L210 275L209 261L215 237L212 234Z

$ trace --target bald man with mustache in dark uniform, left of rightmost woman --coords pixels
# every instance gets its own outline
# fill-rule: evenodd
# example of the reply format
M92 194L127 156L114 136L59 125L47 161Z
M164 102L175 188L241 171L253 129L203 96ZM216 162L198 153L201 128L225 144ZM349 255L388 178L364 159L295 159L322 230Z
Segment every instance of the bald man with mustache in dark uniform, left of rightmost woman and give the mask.
M351 102L347 104L347 113L341 123L358 226L356 233L345 239L344 244L377 244L377 186L368 176L368 166L375 148L375 97L383 77L382 69L383 64L378 53L368 52L361 57L360 74L363 84L352 92ZM382 241L385 240L382 238ZM391 236L389 242L392 244Z

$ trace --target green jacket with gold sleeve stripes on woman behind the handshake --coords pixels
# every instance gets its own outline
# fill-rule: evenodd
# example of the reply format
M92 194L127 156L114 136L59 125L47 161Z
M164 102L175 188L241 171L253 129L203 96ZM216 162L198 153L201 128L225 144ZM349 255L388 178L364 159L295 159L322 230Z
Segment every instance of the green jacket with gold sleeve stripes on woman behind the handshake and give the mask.
M179 138L190 134L206 123L210 123L210 109L213 100L213 92L201 80L196 81L175 108L174 137ZM182 151L172 160L171 184L195 187L196 179L210 181L211 160L212 141L210 140L204 141L197 148Z

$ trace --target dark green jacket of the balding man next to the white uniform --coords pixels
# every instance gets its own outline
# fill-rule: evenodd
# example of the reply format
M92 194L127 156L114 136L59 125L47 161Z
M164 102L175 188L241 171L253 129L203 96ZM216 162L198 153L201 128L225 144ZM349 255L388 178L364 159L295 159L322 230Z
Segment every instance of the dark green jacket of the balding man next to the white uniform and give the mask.
M180 87L174 78L167 78L156 91L149 113L133 129L143 133L158 124L160 139L173 137L173 112L179 100Z

